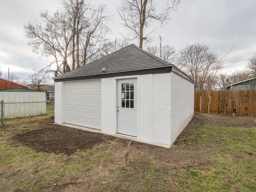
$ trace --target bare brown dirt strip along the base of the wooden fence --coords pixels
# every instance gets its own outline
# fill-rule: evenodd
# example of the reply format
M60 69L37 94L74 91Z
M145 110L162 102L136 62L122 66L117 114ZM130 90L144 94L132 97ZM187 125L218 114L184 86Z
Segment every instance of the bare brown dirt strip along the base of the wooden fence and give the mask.
M194 119L198 123L209 124L211 126L244 128L251 128L256 126L256 119L254 117L196 114Z

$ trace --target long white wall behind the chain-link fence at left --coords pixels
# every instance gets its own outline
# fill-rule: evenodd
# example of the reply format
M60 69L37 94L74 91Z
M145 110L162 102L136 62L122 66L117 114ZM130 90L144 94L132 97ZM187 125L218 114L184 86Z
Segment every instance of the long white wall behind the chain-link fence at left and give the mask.
M45 92L0 92L1 100L5 118L46 114Z

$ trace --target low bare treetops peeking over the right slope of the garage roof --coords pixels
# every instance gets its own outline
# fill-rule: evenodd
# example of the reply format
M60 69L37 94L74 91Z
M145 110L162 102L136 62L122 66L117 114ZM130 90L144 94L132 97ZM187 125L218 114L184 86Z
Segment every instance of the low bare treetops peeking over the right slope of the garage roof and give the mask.
M147 46L146 51L153 55L156 55L157 57L161 57L160 50L159 50L158 46ZM170 45L164 45L162 47L162 58L161 59L168 61L168 62L173 62L175 57L176 57L176 54L175 54L174 47L171 47Z

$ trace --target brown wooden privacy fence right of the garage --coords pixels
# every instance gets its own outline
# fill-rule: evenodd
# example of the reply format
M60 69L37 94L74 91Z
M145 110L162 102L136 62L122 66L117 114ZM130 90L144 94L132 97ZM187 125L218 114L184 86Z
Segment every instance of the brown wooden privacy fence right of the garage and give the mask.
M256 90L195 91L195 112L256 116Z

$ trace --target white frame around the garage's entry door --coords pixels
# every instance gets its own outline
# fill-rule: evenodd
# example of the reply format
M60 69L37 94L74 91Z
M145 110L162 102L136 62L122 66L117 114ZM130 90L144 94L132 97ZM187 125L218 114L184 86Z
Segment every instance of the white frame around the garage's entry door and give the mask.
M137 126L137 136L134 137L134 136L130 136L130 135L124 135L124 134L120 134L117 132L117 110L116 110L116 107L117 107L117 81L118 80L122 80L122 79L137 79L137 102L136 102L136 107L137 107L137 114L136 114L136 117L137 117L137 122L136 122L136 126ZM115 132L116 134L118 135L122 135L124 137L128 137L128 138L138 138L138 133L139 133L139 76L138 75L134 75L134 76L122 76L122 77L115 77Z

